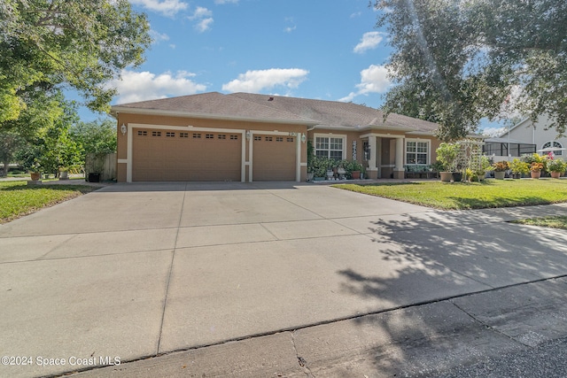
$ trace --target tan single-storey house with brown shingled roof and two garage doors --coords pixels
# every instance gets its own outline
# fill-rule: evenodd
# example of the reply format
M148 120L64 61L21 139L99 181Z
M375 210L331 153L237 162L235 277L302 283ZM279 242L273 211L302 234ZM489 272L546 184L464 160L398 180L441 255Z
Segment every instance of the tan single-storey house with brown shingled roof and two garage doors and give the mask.
M369 178L435 161L437 125L357 104L218 92L115 105L117 180L305 181L315 154L355 159Z

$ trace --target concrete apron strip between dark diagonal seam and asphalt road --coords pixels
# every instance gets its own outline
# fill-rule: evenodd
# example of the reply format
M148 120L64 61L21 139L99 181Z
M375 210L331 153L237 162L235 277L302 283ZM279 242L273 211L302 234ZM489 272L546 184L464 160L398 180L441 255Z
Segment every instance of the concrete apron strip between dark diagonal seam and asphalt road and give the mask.
M523 283L71 376L560 377L567 374L564 350L540 374L513 367L534 365L534 353L567 337L566 290L565 277ZM489 375L486 359L511 360L512 373Z

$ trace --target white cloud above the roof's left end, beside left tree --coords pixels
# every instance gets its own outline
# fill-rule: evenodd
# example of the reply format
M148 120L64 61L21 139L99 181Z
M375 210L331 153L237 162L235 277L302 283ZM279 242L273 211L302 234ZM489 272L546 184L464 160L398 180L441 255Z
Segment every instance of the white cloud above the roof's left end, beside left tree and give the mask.
M128 104L205 91L206 85L191 80L194 76L195 73L186 71L178 71L175 75L170 72L157 75L147 71L136 73L123 70L121 79L111 81L110 85L118 89L119 104Z

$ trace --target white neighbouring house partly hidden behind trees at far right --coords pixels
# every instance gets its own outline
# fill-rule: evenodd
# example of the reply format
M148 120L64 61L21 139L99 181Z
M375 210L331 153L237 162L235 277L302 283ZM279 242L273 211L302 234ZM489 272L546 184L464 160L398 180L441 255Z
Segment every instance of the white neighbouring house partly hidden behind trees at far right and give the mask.
M549 125L549 120L545 116L541 116L537 122L533 123L532 120L523 120L514 127L510 127L508 131L501 135L502 139L508 137L513 140L522 141L523 143L535 144L536 150L546 150L555 148L554 153L556 156L566 158L567 150L559 150L567 148L567 137L557 137L555 128L545 130Z

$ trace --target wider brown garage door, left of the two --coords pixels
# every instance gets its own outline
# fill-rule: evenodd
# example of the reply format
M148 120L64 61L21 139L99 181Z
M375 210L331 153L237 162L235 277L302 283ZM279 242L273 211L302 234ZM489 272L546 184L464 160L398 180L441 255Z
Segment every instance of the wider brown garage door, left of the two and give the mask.
M242 135L136 128L132 181L240 181Z

